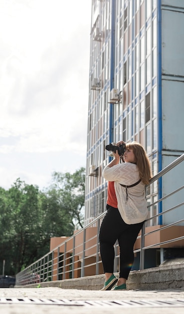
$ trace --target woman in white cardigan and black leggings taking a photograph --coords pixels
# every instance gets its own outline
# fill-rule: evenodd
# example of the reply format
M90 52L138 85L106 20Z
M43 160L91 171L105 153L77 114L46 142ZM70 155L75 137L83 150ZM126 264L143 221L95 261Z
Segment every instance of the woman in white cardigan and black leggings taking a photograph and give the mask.
M124 143L117 142L117 146ZM125 143L124 143L125 144ZM99 241L100 254L105 273L102 290L126 289L126 280L131 270L133 246L147 217L145 185L152 177L150 163L142 145L126 143L123 156L118 150L103 170L102 176L108 181L107 212L102 220ZM124 163L120 164L123 158ZM113 274L114 244L120 248L119 279Z

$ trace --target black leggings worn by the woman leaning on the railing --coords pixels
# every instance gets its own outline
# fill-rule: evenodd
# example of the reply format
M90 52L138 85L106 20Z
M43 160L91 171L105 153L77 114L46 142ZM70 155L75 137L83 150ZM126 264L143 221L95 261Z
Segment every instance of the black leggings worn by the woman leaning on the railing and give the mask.
M104 273L114 272L114 244L118 240L120 248L119 278L128 278L131 270L134 253L133 246L144 221L138 224L127 225L117 208L107 205L99 232L100 255Z

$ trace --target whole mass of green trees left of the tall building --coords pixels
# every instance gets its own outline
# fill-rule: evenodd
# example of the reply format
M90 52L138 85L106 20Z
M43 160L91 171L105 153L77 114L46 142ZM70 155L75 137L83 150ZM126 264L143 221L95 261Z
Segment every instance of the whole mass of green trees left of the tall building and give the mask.
M83 227L85 169L53 174L45 191L17 179L0 188L0 269L16 274L50 250L50 238L71 236Z

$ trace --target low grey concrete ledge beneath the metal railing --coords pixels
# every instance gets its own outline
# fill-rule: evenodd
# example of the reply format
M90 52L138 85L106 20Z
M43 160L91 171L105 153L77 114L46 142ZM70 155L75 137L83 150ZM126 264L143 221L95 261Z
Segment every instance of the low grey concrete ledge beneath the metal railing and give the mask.
M118 277L118 273L115 273ZM41 282L40 287L60 287L63 289L100 290L105 276L95 275L74 279ZM38 283L17 287L37 287ZM177 289L184 287L184 260L159 267L130 271L128 290Z

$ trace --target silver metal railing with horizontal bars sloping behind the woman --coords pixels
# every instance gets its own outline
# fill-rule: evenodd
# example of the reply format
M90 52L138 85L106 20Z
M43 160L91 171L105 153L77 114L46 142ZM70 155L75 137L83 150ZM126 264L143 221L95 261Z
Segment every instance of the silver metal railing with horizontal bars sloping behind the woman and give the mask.
M153 182L164 176L166 173L168 173L170 170L175 168L183 161L184 154L179 156L170 165L168 165L157 175L155 175L149 181L149 184L146 187L150 186ZM152 202L147 207L151 209L151 207L153 208L159 202L165 201L167 198L171 198L174 196L176 199L176 196L183 188L184 186L181 186L179 188L177 187L174 191L167 194L166 196L163 196L159 200ZM164 241L159 243L146 242L147 239L156 232L165 232L165 230L169 230L169 228L180 228L181 226L183 226L184 219L176 219L176 221L173 221L163 226L152 226L152 229L150 230L149 227L146 226L146 224L150 224L151 221L154 221L160 215L168 215L168 213L170 213L171 211L174 211L176 209L179 210L179 208L181 208L182 206L184 206L184 202L174 204L170 208L164 208L163 212L151 215L146 219L145 224L143 225L141 230L141 236L137 237L137 241L140 241L140 246L138 248L135 248L134 250L134 252L140 253L140 269L144 269L144 253L147 249L161 247L167 244L170 245L172 243L178 243L178 241L184 240L184 235L181 235L172 237L171 239L165 239ZM88 223L83 229L76 231L71 237L64 240L60 245L52 249L52 251L45 254L43 257L32 263L23 271L19 272L16 275L16 285L25 285L67 278L77 278L86 276L86 274L88 275L88 273L93 275L103 273L99 252L98 233L101 220L104 217L105 213L106 211L99 215L97 218L95 218L93 221ZM158 228L155 228L157 226ZM94 232L92 232L92 234L90 235L90 232L92 230L94 230ZM71 246L72 249L70 248ZM118 271L119 267L118 252L119 249L116 243L114 271Z

